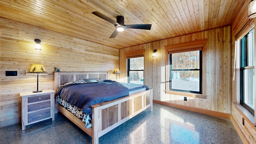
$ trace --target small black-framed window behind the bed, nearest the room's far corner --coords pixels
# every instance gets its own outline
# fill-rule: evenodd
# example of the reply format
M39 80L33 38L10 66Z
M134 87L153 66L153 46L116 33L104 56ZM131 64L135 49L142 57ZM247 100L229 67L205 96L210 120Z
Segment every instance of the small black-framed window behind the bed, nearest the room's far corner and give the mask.
M128 58L128 83L144 84L144 57Z

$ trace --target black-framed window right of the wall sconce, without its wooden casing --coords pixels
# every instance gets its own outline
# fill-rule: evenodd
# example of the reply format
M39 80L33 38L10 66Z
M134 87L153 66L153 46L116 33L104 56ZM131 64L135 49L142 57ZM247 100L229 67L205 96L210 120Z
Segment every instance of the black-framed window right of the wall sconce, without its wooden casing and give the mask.
M169 90L202 94L202 47L173 52L169 60Z

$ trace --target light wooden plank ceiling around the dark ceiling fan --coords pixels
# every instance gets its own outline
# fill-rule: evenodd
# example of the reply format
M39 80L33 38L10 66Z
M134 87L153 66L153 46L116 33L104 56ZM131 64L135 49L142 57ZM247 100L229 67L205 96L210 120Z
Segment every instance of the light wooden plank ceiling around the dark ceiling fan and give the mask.
M1 0L0 17L111 46L125 48L231 25L245 0ZM152 24L151 30L115 26L98 11L124 24ZM33 40L32 40L33 41Z

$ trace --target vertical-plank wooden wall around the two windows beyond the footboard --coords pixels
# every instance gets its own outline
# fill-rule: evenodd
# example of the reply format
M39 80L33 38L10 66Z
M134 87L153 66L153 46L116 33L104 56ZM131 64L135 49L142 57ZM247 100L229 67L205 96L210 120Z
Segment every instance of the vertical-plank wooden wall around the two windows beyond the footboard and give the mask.
M165 94L165 49L164 46L207 39L206 95L207 98ZM152 52L156 49L156 58ZM226 26L204 32L197 32L168 38L147 44L120 49L120 80L126 81L126 52L146 50L144 56L144 81L153 88L153 99L181 106L201 108L230 114L231 112L231 27Z

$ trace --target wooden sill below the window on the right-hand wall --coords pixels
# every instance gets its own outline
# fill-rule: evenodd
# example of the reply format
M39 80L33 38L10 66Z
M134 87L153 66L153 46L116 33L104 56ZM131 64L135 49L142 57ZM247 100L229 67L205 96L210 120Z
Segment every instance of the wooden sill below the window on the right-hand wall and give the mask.
M236 110L240 112L244 119L250 121L256 127L256 124L254 123L254 115L248 112L248 110L246 110L246 108L244 108L241 104L236 104L235 102L233 103L235 105Z

